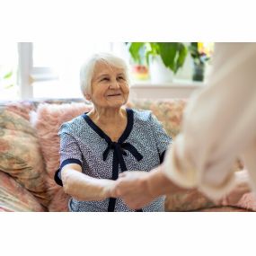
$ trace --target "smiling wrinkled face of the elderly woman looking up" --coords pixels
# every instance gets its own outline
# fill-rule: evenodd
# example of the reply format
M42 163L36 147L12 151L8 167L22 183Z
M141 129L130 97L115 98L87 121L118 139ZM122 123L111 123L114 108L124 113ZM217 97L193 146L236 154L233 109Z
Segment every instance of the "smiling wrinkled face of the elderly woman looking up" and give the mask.
M128 101L128 81L124 70L103 62L95 65L91 95L86 95L95 107L120 108Z

